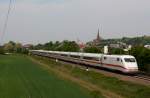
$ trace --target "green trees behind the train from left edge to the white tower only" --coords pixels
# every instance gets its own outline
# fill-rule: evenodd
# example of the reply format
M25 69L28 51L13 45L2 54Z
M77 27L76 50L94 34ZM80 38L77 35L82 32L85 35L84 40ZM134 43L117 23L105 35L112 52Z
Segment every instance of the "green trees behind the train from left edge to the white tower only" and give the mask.
M28 50L52 50L52 51L67 51L67 52L88 52L88 53L102 53L102 49L96 46L88 46L83 50L80 49L79 45L75 41L64 40L62 42L47 42L45 44L32 45L28 48L24 47L21 43L9 41L0 47L0 53L28 53Z

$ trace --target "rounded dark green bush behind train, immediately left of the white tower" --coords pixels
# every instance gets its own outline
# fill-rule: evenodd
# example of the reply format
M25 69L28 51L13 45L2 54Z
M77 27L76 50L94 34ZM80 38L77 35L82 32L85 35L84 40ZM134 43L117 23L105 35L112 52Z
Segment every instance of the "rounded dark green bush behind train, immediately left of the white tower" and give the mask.
M91 46L91 47L85 47L83 49L84 52L87 52L87 53L102 53L101 49L100 48L97 48L97 47L94 47L94 46Z

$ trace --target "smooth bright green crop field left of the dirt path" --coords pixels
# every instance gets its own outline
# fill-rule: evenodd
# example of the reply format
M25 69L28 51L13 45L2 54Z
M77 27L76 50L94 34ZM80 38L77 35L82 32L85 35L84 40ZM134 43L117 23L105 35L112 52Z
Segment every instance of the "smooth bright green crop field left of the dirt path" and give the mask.
M60 79L21 55L0 55L0 98L90 98L90 93Z

